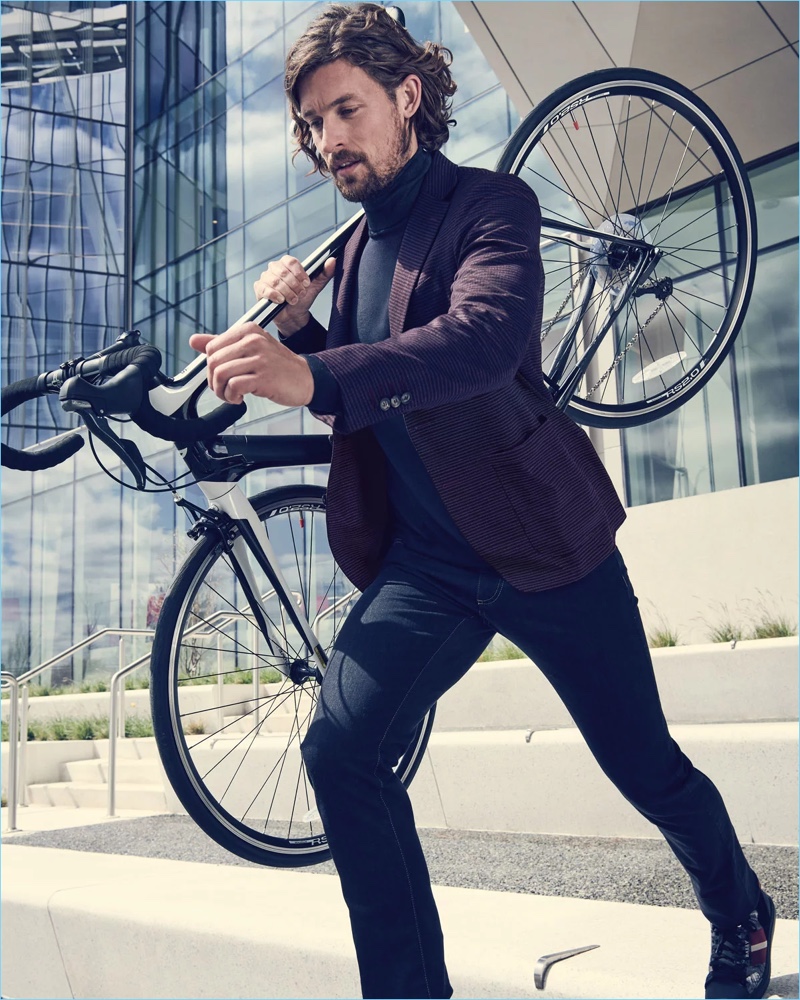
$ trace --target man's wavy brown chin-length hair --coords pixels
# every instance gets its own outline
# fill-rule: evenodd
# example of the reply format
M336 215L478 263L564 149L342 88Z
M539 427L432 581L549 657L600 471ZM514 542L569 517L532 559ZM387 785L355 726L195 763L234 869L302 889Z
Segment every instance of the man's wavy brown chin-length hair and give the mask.
M286 57L284 89L294 122L294 156L305 153L311 172L327 174L325 160L317 152L311 129L300 116L300 86L315 70L337 59L345 59L368 73L392 101L395 90L409 74L422 81L422 100L412 122L420 146L433 152L450 135L451 98L456 91L450 75L453 55L435 42L419 45L376 3L330 4L306 28Z

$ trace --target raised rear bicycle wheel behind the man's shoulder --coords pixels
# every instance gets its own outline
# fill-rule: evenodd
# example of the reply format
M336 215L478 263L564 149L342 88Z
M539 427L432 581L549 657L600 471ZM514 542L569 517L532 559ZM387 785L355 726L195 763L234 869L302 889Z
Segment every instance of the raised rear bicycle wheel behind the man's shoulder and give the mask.
M695 395L730 352L755 277L750 181L717 115L657 73L600 70L538 104L512 135L497 170L533 188L543 219L605 227L609 237L633 236L663 251L606 332L567 412L590 426L632 427ZM550 231L542 242L542 361L556 395L632 270L613 239L584 236L576 250L565 235ZM595 287L581 306L587 274ZM579 333L559 364L559 338L578 316Z

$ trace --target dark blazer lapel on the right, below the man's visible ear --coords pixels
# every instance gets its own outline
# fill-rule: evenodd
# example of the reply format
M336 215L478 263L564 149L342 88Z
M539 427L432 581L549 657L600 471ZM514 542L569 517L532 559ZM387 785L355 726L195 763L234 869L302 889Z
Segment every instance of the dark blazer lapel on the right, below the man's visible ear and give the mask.
M419 280L433 242L450 206L449 194L456 184L457 168L441 153L433 154L428 176L414 203L406 225L389 293L389 335L403 330L411 293Z

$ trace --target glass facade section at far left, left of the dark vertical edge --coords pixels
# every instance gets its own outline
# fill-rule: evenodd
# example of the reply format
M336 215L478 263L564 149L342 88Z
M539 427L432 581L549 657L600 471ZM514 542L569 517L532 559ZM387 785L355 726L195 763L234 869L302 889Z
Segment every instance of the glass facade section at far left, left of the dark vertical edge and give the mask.
M94 353L124 325L127 16L111 3L3 3L2 14L7 384ZM25 447L71 423L47 397L4 421L5 440ZM99 496L113 539L102 553ZM3 669L119 619L118 579L115 594L93 571L117 558L120 511L84 456L36 476L4 470Z

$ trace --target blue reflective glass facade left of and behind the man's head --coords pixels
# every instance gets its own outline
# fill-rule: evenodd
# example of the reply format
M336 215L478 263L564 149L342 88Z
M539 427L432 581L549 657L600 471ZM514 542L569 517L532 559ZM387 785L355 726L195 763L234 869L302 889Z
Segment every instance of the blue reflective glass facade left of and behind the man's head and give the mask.
M20 22L21 34L33 32L35 9L37 17L50 22L41 22L44 40L56 42L57 7L68 6L73 19L85 23L97 21L101 9L111 5L15 6L28 18L27 25ZM292 163L289 153L285 53L319 4L124 6L131 43L127 68L110 70L98 59L102 70L92 72L91 63L70 68L62 60L48 79L34 77L30 65L26 75L23 65L15 86L3 88L4 192L13 174L24 177L37 169L38 161L27 155L35 136L49 184L37 189L43 195L37 211L71 212L75 230L72 255L59 258L62 285L51 278L50 297L42 294L38 300L31 299L38 277L31 272L37 264L55 271L56 240L63 236L52 231L55 215L48 217L46 233L35 234L36 246L46 243L41 260L27 249L32 222L22 208L14 242L5 236L4 280L17 283L19 305L13 329L3 317L4 382L89 354L126 327L140 329L162 351L164 369L176 372L191 359L191 333L219 332L253 304L253 281L269 260L286 252L302 259L354 211L330 182L309 176L307 164ZM403 9L415 37L441 41L454 55L458 128L446 152L461 163L493 166L518 121L497 78L450 3L406 3ZM23 38L22 44L35 41ZM117 129L113 147L103 132L109 124ZM78 136L71 145L62 143L68 130ZM87 135L94 137L92 150ZM112 148L113 210L107 178ZM74 180L63 192L49 180L56 168L85 180L87 192L100 192L106 200L92 203L87 193L78 203ZM62 193L67 197L59 200ZM79 207L88 213L97 204L105 209L100 216L78 218ZM9 218L5 193L3 207ZM89 241L107 240L103 234L112 218L114 242L102 243L100 267L101 257ZM91 280L84 277L87 271ZM88 304L81 291L87 281L97 293ZM320 297L320 315L327 308L325 298ZM32 318L39 321L35 337ZM68 335L68 330L74 332ZM19 419L6 432L9 443L29 445L67 426L54 398L38 405L38 410L32 405L17 411ZM246 420L249 429L263 433L326 430L304 410L260 400L249 404ZM136 440L156 468L178 471L174 449L143 436ZM102 446L99 454L118 474ZM324 475L324 469L287 470L257 473L248 482L254 492L284 480L321 481ZM169 494L119 487L98 471L87 448L48 472L6 472L3 522L3 666L15 672L99 627L145 627L148 606L157 603L189 547L182 540L183 515ZM109 644L65 663L53 680L83 680L114 662L116 650Z

